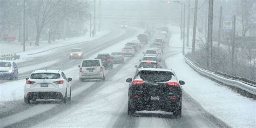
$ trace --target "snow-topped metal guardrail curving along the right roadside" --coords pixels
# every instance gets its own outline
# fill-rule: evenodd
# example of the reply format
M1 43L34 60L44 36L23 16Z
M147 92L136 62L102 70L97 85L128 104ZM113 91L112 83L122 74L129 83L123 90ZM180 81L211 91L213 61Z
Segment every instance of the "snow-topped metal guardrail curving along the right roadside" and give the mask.
M223 83L225 85L231 86L232 88L238 90L241 95L248 96L251 98L256 98L256 84L253 80L248 80L245 78L235 77L232 75L227 75L225 73L212 71L210 69L200 66L188 57L184 57L186 63L191 66L195 71L199 72L208 78L211 78L217 82Z

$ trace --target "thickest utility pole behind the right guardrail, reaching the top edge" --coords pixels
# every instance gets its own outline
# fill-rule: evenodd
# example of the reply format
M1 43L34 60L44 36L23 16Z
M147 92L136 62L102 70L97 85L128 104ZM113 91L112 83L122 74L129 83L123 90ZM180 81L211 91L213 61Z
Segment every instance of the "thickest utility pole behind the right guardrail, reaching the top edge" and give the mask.
M213 21L213 0L209 0L208 34L207 34L207 68L209 68L212 65L212 25L213 25L212 21Z

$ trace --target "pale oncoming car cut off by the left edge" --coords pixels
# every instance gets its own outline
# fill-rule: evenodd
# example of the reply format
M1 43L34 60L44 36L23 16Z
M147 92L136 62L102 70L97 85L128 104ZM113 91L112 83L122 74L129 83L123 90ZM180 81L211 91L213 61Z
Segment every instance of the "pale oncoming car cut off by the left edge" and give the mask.
M15 62L0 60L0 78L18 79L18 67Z

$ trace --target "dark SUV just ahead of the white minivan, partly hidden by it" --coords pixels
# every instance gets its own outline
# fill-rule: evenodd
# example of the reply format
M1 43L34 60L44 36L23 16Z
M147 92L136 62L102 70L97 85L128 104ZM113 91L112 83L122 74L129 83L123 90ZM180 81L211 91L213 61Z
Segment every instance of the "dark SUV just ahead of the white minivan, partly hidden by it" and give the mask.
M101 59L105 68L113 69L113 59L109 53L100 53L95 59Z

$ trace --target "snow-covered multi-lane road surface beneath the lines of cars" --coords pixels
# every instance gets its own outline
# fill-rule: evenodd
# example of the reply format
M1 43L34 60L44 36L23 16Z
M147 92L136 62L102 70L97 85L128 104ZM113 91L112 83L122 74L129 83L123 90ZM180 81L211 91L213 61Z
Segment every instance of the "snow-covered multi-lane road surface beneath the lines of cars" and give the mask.
M137 31L137 32L136 32ZM86 50L86 58L93 58L97 53L120 50L126 42L136 37L138 30L129 29L116 38L99 39L91 44L79 45ZM179 36L177 36L179 37ZM127 39L129 38L129 39ZM171 38L172 42L175 38ZM152 42L152 41L151 41ZM105 82L80 83L77 75L77 65L80 60L69 60L67 49L56 51L56 56L45 55L45 58L60 59L49 66L52 69L62 69L72 81L72 104L58 102L36 102L30 105L23 100L5 103L0 112L0 127L226 127L221 120L208 116L205 110L186 92L183 93L181 119L176 119L172 113L143 111L135 116L127 116L128 83L126 78L133 78L139 59L143 57L145 46L135 57L125 59L125 64L117 64L113 70L107 71ZM166 46L164 60L165 68L171 68L165 60L179 57L180 48ZM175 60L174 60L175 61ZM67 63L68 62L68 63ZM43 63L40 62L40 63ZM26 66L26 65L25 65ZM25 67L24 66L24 67ZM179 72L179 71L176 71ZM30 73L30 72L29 72ZM28 74L24 73L24 78ZM179 76L178 76L179 77ZM185 77L183 77L185 78ZM203 77L197 76L198 79ZM185 80L186 79L182 79ZM17 80L24 83L24 80ZM3 84L8 84L5 82ZM214 83L214 82L212 82ZM187 86L186 84L184 86ZM23 91L23 90L22 90ZM22 97L23 98L23 97ZM21 99L22 99L21 98Z

